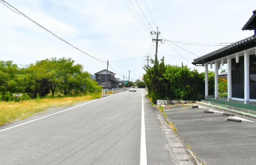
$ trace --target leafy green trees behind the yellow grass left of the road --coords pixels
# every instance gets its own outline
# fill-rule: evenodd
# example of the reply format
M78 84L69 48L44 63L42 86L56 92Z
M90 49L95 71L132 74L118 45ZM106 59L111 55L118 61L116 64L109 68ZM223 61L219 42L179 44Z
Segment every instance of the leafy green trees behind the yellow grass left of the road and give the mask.
M71 58L51 58L18 67L13 61L0 61L0 99L9 101L16 93L35 99L100 92L83 65L74 63Z

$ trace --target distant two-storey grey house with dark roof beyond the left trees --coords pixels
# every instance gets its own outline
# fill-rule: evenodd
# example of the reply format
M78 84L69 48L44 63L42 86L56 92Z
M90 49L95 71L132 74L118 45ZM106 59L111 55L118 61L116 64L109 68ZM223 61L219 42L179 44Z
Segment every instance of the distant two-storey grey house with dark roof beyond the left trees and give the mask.
M98 82L99 86L102 86L104 89L112 89L112 88L118 88L119 82L115 79L115 73L108 71L104 69L97 73L94 73L95 75L95 81ZM107 80L107 84L106 84ZM107 87L107 88L106 88Z

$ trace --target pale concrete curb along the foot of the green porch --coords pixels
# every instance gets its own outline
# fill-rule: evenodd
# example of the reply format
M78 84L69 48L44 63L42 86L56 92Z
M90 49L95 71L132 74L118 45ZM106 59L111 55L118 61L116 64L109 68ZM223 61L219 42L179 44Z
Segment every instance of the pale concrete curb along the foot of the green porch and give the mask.
M228 109L228 108L224 108L224 107L220 107L220 106L216 106L216 105L212 105L212 104L202 103L202 102L196 102L196 104L201 104L203 106L214 108L214 109L217 109L219 111L229 112L231 114L237 114L237 115L241 115L243 117L256 119L256 115L253 115L253 114L248 114L248 113L245 113L245 112L236 111L236 110L232 110L232 109Z

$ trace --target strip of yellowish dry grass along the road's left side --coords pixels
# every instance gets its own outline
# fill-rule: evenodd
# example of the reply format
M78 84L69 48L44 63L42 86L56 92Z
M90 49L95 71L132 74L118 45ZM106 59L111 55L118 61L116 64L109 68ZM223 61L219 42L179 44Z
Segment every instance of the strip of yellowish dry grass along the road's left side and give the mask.
M39 112L47 112L51 108L67 107L83 101L101 98L101 94L93 93L77 97L39 98L21 100L19 102L0 102L0 126L13 121L28 118Z

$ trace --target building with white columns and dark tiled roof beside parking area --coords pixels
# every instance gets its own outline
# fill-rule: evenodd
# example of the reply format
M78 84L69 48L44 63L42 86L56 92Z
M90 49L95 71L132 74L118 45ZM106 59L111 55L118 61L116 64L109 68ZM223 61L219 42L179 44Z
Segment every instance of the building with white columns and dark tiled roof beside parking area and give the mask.
M218 70L228 65L227 101L256 102L256 10L242 30L254 30L254 35L194 59L192 64L205 66L205 97L208 98L208 66L215 66L215 99L218 99Z

